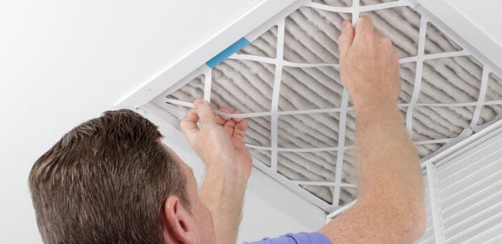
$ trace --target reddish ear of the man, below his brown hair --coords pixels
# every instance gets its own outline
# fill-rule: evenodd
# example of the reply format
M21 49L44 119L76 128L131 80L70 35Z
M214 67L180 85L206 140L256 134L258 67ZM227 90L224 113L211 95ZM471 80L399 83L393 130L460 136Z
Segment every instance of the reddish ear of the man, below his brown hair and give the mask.
M168 235L165 238L186 244L196 243L195 223L190 222L190 213L178 197L167 197L162 214L165 220L164 235Z

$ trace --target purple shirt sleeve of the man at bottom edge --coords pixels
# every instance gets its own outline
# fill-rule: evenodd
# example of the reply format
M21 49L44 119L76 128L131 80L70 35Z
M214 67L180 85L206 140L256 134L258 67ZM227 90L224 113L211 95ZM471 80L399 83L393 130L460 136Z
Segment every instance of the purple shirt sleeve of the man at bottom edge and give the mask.
M305 233L301 232L298 234L285 234L284 236L279 236L277 238L264 238L261 241L255 241L252 243L243 244L333 244L329 239L323 234Z

